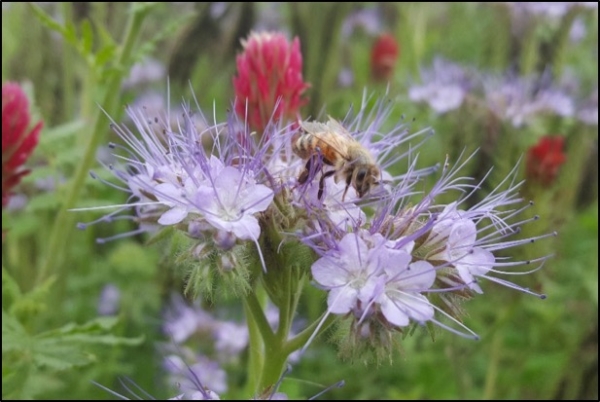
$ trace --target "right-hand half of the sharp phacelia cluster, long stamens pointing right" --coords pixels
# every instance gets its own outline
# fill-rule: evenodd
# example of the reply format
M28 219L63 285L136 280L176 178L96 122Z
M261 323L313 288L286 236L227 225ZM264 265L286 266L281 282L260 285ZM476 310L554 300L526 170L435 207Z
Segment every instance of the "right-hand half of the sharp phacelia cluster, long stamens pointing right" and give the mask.
M446 168L420 201L415 202L412 186L399 187L375 204L370 219L356 221L350 233L340 230L302 238L321 255L312 265L312 274L329 293L329 313L354 317L353 328L369 336L381 328L431 321L476 338L461 323L456 313L461 310L452 295L464 299L482 293L479 282L488 280L545 297L501 276L521 275L513 270L537 263L535 271L547 256L524 261L495 256L499 250L553 235L510 239L523 224L537 219L519 218L528 205L515 209L522 202L517 193L520 183L514 183L516 170L480 202L461 209L479 188L470 178L458 176L466 162ZM452 192L457 193L457 201L436 204L442 194ZM444 324L441 318L462 329Z

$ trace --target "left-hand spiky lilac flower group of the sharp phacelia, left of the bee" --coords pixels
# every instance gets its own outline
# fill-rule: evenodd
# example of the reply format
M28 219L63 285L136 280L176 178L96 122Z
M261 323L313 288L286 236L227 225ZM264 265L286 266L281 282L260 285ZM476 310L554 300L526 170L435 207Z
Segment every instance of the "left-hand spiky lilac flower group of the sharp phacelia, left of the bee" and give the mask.
M273 144L256 144L248 128L234 118L226 124L203 124L199 132L197 119L186 112L179 131L171 131L165 123L169 116L149 116L143 109L128 113L137 133L114 125L127 148L113 144L122 164L109 168L130 194L127 206L134 207L137 219L145 223L134 233L175 226L187 229L192 237L224 232L218 236L229 239L228 244L236 239L256 242L260 236L256 215L274 196L265 185L269 173L263 164ZM206 137L212 144L210 153L205 150ZM116 212L100 221L127 218L119 215L127 206L116 206Z

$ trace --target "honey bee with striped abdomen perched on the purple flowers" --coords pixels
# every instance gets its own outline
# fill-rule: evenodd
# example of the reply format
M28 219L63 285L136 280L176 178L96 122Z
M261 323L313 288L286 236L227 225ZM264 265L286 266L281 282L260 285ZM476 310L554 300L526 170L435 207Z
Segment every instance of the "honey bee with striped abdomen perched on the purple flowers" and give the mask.
M381 169L371 153L337 120L330 117L327 123L300 122L300 129L300 135L292 139L294 153L306 159L298 183L306 183L312 164L319 156L322 156L325 165L333 166L333 170L321 175L317 194L319 199L323 196L325 179L333 175L336 183L341 178L346 181L342 202L350 185L362 198L373 186L380 184Z

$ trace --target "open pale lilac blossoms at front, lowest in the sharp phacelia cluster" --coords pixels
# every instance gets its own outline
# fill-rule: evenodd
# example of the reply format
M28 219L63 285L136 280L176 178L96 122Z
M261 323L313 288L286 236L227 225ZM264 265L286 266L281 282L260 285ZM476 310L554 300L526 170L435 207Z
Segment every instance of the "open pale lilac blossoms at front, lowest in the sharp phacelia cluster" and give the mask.
M409 318L431 319L433 307L420 292L433 284L435 270L427 262L411 263L410 248L412 242L380 234L346 234L312 266L315 281L329 290L329 312L353 312L362 320L380 309L397 326L408 325Z

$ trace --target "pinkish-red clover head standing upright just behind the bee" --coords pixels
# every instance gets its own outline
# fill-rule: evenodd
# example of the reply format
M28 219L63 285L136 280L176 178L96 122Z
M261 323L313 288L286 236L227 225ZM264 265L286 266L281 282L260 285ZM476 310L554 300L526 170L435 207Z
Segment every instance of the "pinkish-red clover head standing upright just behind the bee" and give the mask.
M306 102L303 92L300 41L290 44L277 32L252 32L242 40L237 57L238 75L233 77L235 111L250 126L262 131L271 120L295 119Z

